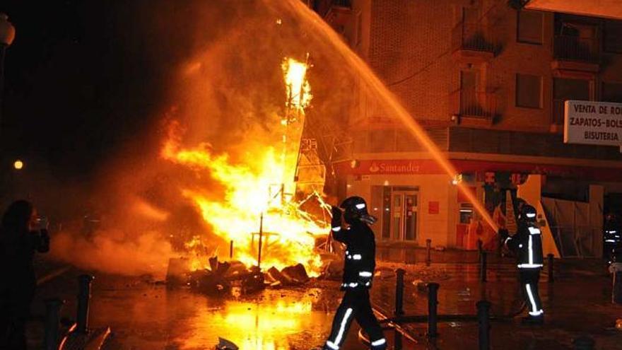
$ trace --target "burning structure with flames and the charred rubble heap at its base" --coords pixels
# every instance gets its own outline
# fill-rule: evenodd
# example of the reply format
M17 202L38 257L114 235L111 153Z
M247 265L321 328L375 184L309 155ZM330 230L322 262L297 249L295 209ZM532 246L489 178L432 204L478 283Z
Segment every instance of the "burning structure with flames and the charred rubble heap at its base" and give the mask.
M206 143L182 146L180 123L172 123L161 156L198 177L209 176L224 192L218 196L200 186L180 189L216 235L216 240L207 241L199 235L186 243L187 282L192 288L208 294L226 293L233 281L239 281L243 290L254 291L266 284L304 284L322 272L316 240L329 232L329 206L322 196L325 168L311 166L321 162L303 152L302 146L305 109L312 98L309 67L308 54L305 62L283 59L286 103L280 122L272 126L278 137L259 142L252 153L235 161ZM303 209L314 201L315 213ZM219 262L216 257L223 243L231 245L229 262ZM209 254L209 247L214 246ZM182 264L171 261L170 281L186 280L180 274Z

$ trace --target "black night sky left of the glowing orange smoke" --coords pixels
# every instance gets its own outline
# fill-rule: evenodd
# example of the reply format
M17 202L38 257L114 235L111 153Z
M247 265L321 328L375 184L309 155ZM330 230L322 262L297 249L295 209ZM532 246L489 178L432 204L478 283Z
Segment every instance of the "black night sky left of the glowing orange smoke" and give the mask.
M192 50L191 1L3 1L4 165L86 179L151 132ZM186 35L185 33L188 33Z

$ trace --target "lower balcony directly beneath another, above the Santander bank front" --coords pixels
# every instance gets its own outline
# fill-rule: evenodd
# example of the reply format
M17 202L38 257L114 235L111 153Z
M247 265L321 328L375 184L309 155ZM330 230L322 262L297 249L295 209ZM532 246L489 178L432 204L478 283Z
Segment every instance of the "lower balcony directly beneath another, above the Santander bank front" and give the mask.
M497 115L497 95L493 91L457 90L450 94L458 124L491 126Z

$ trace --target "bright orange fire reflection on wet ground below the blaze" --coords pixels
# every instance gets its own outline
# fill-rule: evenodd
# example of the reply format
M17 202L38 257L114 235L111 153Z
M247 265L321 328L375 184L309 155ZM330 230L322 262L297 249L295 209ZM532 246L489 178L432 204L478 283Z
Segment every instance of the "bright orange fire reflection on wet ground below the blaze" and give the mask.
M213 349L218 337L244 350L310 349L323 344L341 296L336 282L312 284L211 298L106 276L94 286L90 321L115 329L118 349Z

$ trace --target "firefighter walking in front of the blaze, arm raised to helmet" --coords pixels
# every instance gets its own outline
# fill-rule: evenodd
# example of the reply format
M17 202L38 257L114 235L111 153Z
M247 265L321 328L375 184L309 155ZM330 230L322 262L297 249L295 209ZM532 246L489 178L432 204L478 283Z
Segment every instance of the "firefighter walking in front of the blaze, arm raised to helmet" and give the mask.
M335 313L331 334L325 350L337 350L344 342L352 320L365 329L371 349L387 349L378 320L370 304L369 289L375 269L375 238L369 227L376 218L370 216L367 204L361 197L349 197L342 204L347 227L341 225L341 209L332 207L331 231L333 238L346 245L344 278L341 290L344 298Z

